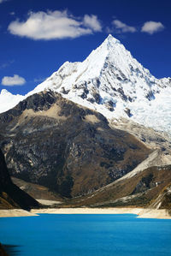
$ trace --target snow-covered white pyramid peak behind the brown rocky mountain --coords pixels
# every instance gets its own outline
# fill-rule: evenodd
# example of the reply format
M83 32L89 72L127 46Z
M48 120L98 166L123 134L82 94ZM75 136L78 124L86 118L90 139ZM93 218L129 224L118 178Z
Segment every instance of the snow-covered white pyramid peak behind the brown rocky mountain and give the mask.
M108 118L123 116L171 132L171 79L156 79L111 35L83 63L64 63L26 96L14 96L13 106L44 90L60 92Z

